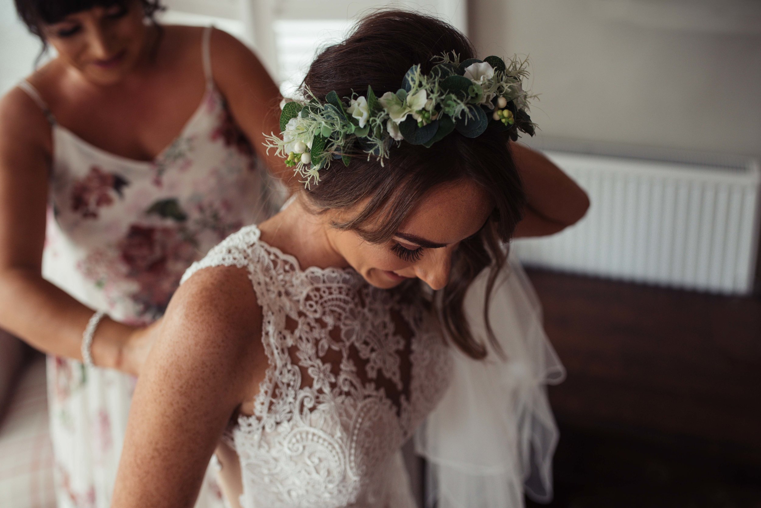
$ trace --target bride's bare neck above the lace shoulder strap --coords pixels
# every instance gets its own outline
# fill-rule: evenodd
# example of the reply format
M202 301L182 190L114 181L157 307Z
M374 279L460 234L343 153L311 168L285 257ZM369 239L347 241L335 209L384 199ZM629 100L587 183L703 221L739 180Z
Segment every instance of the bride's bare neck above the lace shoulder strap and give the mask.
M333 242L330 213L311 214L298 198L260 224L259 229L264 242L295 256L301 268L349 266Z

